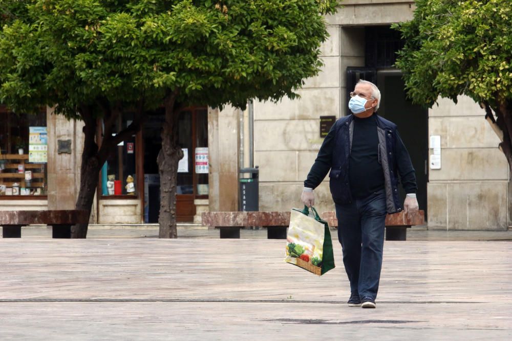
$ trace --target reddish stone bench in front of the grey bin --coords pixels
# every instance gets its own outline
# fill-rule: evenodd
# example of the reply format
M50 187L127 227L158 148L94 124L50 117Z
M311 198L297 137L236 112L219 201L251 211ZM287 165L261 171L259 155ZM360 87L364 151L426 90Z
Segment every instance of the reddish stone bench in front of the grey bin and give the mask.
M203 226L220 229L221 238L240 238L245 226L262 226L268 239L286 239L290 212L203 212Z

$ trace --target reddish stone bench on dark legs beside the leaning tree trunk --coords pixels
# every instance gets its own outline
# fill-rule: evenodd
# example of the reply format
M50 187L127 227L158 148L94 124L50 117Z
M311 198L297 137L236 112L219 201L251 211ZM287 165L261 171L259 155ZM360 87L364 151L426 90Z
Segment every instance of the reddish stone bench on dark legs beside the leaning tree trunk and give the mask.
M0 211L4 238L20 238L22 227L30 224L52 226L53 238L71 238L71 226L88 221L89 212L79 210Z

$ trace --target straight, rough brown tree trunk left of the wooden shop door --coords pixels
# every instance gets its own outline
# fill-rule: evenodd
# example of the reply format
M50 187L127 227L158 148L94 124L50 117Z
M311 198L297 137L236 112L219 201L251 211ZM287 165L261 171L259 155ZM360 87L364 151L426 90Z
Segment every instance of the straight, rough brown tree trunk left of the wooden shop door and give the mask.
M165 101L165 123L162 129L162 149L157 163L160 173L160 238L177 238L176 184L178 163L183 151L178 145L178 111L175 110L175 94Z

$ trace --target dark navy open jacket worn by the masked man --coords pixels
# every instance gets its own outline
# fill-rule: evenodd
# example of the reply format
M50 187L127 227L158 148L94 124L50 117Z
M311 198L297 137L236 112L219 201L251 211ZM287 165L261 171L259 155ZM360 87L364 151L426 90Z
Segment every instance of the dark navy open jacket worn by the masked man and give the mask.
M376 115L376 114L374 114ZM396 125L376 115L377 134L379 141L379 162L384 173L386 190L386 206L388 213L402 211L398 196L398 174L406 193L416 193L416 176L411 158L403 145ZM329 169L329 188L332 199L338 204L353 201L349 181L349 156L352 148L354 132L353 115L345 116L336 121L324 140L313 167L304 181L304 186L316 188L327 175ZM332 152L329 152L332 150Z

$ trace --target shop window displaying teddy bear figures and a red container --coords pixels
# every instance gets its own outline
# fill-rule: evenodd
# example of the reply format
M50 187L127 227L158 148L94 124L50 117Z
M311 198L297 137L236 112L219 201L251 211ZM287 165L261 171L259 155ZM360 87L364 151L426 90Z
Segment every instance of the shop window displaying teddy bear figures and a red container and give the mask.
M113 129L113 135L128 127L133 120L133 113L120 116ZM104 126L102 126L102 134ZM134 196L139 193L136 176L136 134L119 143L101 169L102 197Z

